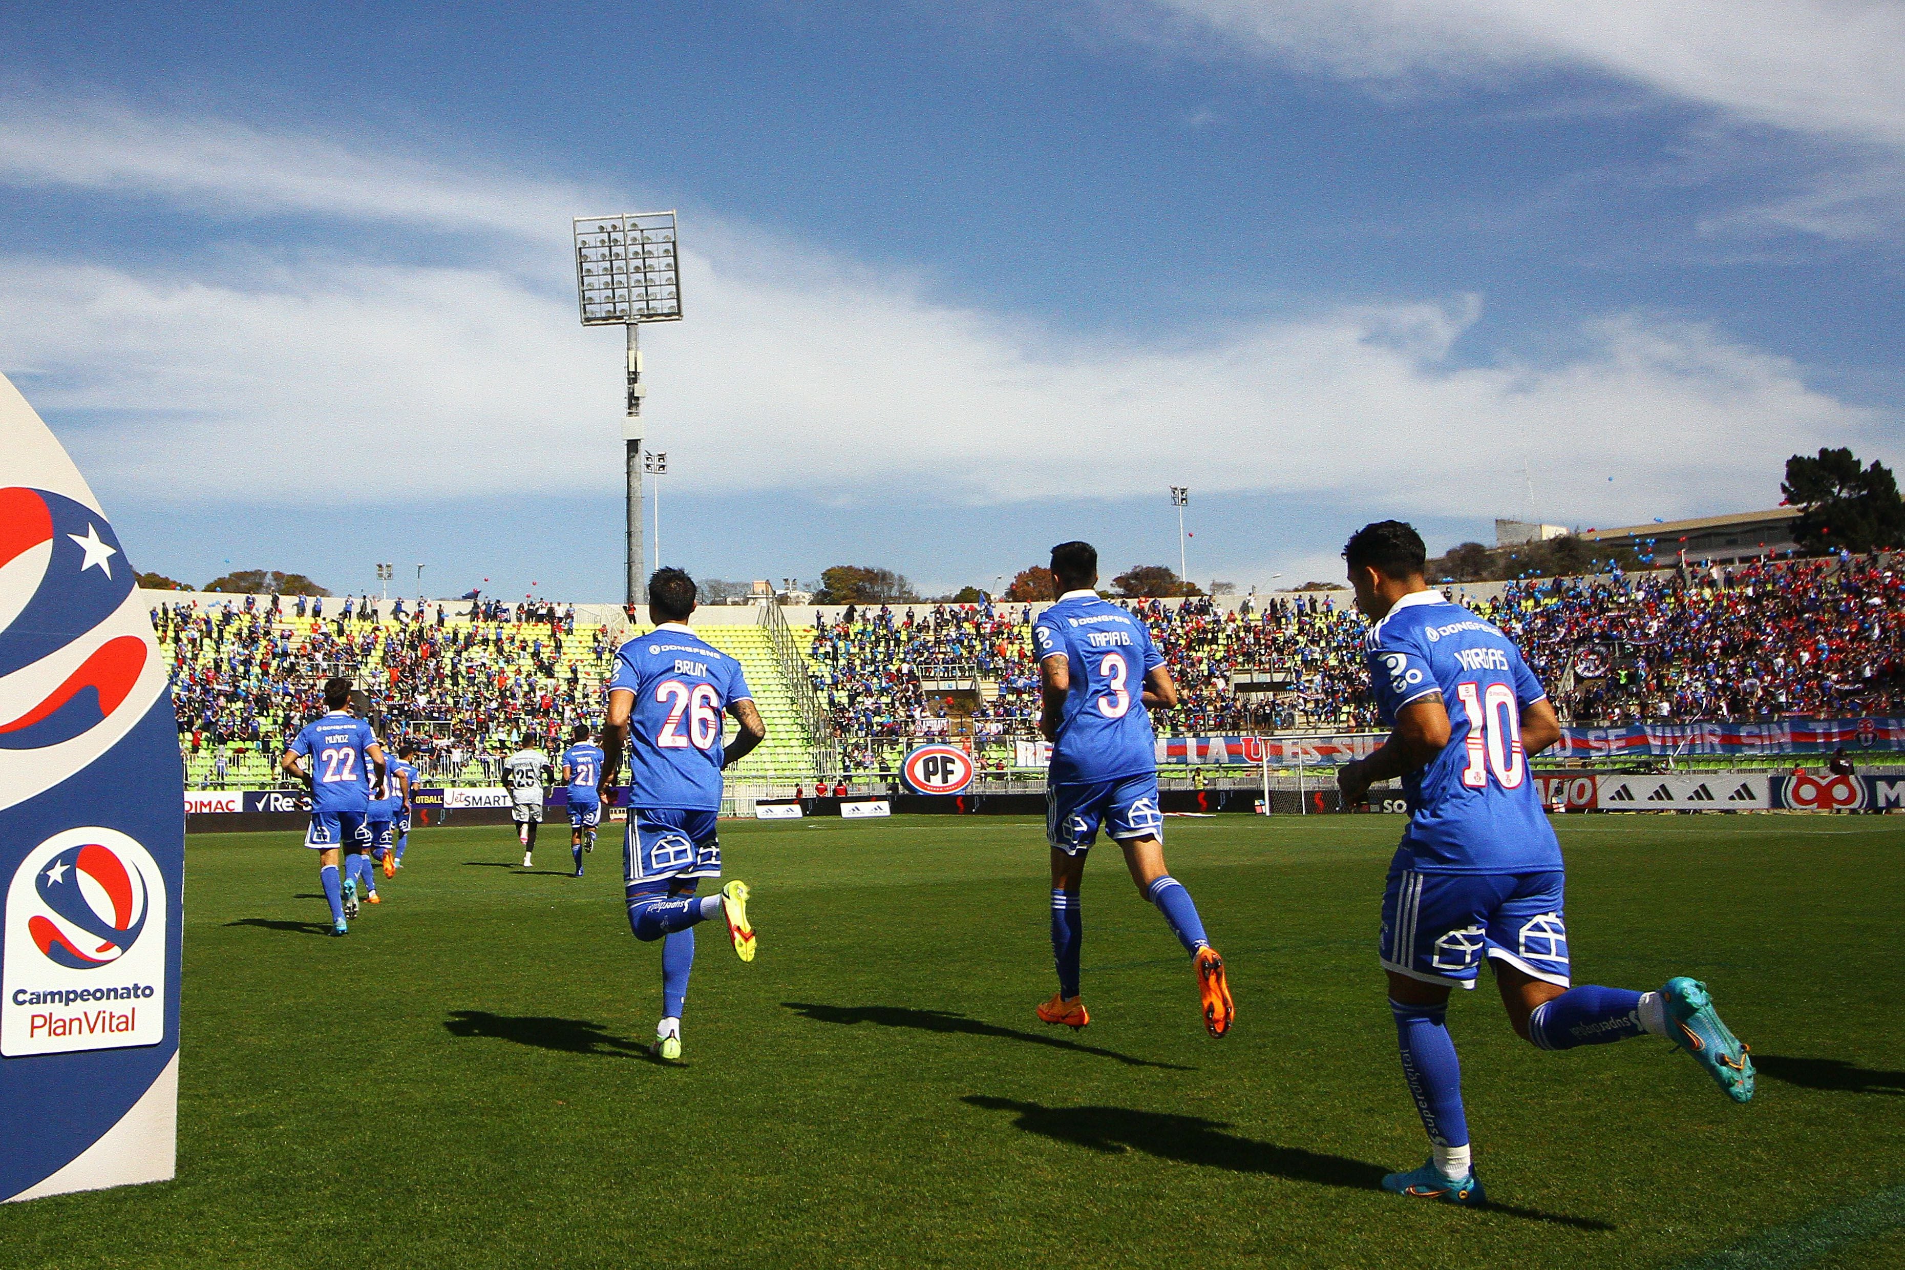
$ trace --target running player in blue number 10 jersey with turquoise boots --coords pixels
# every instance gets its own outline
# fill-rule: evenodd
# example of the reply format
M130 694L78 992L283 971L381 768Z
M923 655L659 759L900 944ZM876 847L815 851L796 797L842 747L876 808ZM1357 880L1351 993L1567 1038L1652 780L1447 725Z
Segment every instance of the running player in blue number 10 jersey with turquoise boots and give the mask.
M1402 778L1410 822L1389 866L1379 955L1389 1007L1431 1157L1383 1188L1484 1203L1461 1108L1461 1066L1444 1024L1450 988L1474 988L1486 959L1509 1024L1537 1049L1665 1035L1735 1102L1753 1096L1747 1047L1703 984L1659 992L1570 986L1562 860L1528 759L1560 721L1520 648L1423 582L1423 540L1400 521L1356 530L1343 559L1374 620L1370 683L1389 740L1337 776L1345 807Z

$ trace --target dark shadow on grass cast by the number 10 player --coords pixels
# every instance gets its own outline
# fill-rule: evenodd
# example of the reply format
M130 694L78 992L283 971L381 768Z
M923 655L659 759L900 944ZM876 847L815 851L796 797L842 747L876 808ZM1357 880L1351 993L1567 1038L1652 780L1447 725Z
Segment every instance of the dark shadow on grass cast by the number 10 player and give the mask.
M1292 1182L1341 1186L1345 1190L1381 1190L1389 1169L1349 1156L1307 1152L1301 1146L1276 1146L1225 1133L1227 1123L1202 1116L1170 1112L1137 1112L1128 1106L1040 1106L1015 1098L966 1095L962 1102L989 1112L1017 1112L1015 1127L1055 1142L1071 1142L1107 1156L1143 1152L1158 1159L1229 1169L1231 1173L1263 1173ZM1511 1203L1490 1203L1486 1211L1556 1222L1577 1230L1614 1230L1608 1222L1585 1217L1537 1213Z

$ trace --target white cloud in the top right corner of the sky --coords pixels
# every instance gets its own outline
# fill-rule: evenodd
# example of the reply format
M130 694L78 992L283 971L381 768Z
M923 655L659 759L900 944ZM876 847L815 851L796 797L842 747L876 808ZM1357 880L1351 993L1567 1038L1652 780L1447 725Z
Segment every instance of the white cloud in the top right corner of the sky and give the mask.
M1149 2L1345 78L1589 67L1739 120L1905 149L1905 6L1894 0Z

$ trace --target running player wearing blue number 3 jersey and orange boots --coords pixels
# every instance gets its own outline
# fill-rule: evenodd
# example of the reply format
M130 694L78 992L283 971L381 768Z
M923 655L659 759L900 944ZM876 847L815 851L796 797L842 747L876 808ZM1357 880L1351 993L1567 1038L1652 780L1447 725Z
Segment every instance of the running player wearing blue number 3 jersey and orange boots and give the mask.
M1038 1007L1038 1016L1069 1028L1092 1022L1078 993L1084 934L1078 885L1086 852L1105 826L1124 850L1132 881L1191 953L1204 1026L1221 1037L1236 1016L1223 957L1204 938L1191 892L1164 868L1156 734L1147 711L1175 706L1177 685L1145 624L1097 597L1092 543L1052 547L1052 572L1059 580L1059 601L1038 616L1033 645L1044 690L1038 728L1052 742L1046 839L1052 845L1052 959L1059 990Z

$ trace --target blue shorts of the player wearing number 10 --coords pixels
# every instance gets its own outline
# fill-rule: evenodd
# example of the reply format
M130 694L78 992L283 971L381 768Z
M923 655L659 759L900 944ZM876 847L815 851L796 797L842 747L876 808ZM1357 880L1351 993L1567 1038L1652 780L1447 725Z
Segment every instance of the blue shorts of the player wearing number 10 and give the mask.
M1383 969L1427 984L1474 988L1488 955L1566 988L1562 873L1419 873L1393 866L1379 955Z

